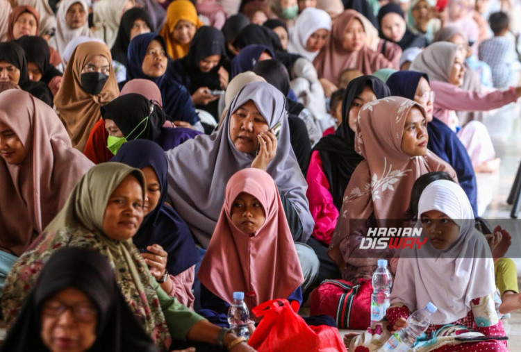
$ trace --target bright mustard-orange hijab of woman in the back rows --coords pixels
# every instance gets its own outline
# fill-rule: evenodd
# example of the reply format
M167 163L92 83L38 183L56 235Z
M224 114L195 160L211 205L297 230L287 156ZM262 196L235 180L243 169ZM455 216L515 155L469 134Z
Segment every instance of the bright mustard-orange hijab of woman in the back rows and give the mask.
M159 34L165 38L167 44L167 54L174 60L183 58L188 54L190 43L180 44L172 38L174 28L180 19L184 19L195 25L196 30L203 26L203 22L197 17L197 9L195 8L192 1L189 0L176 0L167 8L167 21Z

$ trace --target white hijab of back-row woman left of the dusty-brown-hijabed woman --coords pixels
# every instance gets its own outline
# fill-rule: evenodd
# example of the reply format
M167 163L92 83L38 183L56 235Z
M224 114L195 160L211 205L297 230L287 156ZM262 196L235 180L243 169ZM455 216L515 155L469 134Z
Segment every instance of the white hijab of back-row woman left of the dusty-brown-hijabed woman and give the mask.
M290 30L288 51L290 53L298 53L313 62L320 50L315 52L307 51L306 42L308 42L308 38L319 29L331 31L331 17L329 17L324 10L305 8L299 17L297 17L295 27Z

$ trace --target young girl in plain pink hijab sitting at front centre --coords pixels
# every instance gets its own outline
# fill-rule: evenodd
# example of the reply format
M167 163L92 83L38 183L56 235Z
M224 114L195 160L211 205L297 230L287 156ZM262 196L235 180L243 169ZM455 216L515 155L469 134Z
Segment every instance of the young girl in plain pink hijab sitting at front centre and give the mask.
M242 169L226 185L224 206L197 275L201 305L226 313L233 292L254 308L265 301L302 301L304 282L281 197L270 174Z

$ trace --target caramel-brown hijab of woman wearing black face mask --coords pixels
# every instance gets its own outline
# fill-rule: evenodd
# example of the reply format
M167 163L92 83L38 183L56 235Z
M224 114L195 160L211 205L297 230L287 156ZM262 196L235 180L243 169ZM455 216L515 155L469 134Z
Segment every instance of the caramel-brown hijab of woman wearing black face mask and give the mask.
M91 95L81 87L81 70L89 60L98 55L104 56L108 60L110 72L103 90L97 95ZM111 62L110 49L104 43L79 44L72 53L63 74L60 90L54 97L56 110L60 113L60 119L69 132L72 146L79 151L83 151L92 127L101 119L99 108L119 95Z

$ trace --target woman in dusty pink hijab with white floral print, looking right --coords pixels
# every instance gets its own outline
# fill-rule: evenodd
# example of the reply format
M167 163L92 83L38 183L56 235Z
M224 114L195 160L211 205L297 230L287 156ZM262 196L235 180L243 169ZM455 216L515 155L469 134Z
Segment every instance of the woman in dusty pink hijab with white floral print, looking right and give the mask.
M409 99L372 101L358 114L355 150L365 160L347 185L329 246L345 280L370 278L377 259L392 257L389 249L358 248L366 220L377 227L386 219L404 219L413 183L422 174L446 171L457 180L454 169L427 149L428 141L425 110ZM356 226L351 221L355 219L361 220ZM397 225L402 224L393 227Z

